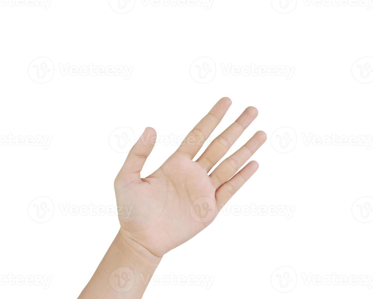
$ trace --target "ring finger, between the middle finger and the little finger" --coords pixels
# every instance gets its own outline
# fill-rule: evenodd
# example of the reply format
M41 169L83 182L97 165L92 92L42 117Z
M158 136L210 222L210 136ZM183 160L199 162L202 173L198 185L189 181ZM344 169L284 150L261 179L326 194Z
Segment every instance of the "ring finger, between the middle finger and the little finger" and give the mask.
M238 151L226 158L211 173L211 182L215 188L219 188L228 181L244 163L261 147L266 141L267 135L263 131L258 131L253 137Z

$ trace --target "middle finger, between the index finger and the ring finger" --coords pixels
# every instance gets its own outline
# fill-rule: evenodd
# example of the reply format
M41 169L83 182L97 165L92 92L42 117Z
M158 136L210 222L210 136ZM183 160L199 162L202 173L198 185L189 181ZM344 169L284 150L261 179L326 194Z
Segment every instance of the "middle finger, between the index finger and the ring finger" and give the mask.
M258 116L258 110L255 107L248 107L237 120L231 124L223 133L221 133L203 152L197 162L206 169L207 172L224 157L228 149L238 139L244 130Z

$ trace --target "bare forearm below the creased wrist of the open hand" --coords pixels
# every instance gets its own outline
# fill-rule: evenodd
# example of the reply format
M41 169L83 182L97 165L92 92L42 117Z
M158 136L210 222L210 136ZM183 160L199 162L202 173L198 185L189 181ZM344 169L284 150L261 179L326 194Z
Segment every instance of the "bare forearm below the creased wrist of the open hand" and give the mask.
M160 260L118 232L79 299L140 299Z

